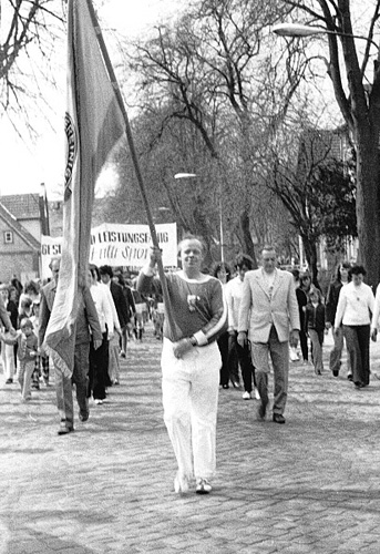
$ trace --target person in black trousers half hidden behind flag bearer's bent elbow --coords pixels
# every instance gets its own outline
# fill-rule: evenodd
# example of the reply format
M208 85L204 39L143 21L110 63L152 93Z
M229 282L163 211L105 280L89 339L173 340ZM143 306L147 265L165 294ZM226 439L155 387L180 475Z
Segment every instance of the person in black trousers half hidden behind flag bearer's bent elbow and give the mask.
M212 275L222 283L223 291L225 298L227 299L227 284L230 279L229 266L224 261L218 261L214 266ZM229 334L227 330L219 336L219 338L217 339L217 345L219 347L222 356L220 384L223 389L228 389L230 380L233 387L238 388L240 383L237 357L234 350L229 351Z

